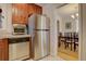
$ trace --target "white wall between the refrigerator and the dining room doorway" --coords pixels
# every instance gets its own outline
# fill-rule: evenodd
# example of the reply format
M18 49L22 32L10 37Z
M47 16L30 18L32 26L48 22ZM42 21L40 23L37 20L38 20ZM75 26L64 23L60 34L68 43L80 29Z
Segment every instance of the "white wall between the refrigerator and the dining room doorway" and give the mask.
M50 17L50 54L57 55L58 38L57 38L56 10L50 5L42 7L42 14L46 14L48 17Z

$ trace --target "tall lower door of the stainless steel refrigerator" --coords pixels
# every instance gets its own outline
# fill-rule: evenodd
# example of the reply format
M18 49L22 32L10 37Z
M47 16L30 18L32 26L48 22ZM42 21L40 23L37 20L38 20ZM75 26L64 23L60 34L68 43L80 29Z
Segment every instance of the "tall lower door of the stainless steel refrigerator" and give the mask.
M49 31L35 31L34 60L39 60L49 54Z

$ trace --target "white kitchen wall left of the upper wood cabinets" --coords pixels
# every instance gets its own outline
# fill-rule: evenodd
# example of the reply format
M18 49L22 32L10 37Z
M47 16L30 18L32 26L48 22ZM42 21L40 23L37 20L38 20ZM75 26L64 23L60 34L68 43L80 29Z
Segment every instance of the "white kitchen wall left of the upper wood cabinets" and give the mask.
M12 33L12 5L8 3L0 3L2 9L2 28L0 28L0 36Z

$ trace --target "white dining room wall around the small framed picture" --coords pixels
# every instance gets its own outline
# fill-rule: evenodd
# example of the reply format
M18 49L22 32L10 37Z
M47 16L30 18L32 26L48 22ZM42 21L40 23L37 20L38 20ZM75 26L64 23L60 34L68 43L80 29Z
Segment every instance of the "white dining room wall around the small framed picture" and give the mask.
M61 33L78 31L77 29L78 24L76 23L76 20L73 20L70 15L60 16L60 17L61 20L59 21L59 24L60 24L59 29ZM71 29L65 28L65 24L67 22L72 23Z

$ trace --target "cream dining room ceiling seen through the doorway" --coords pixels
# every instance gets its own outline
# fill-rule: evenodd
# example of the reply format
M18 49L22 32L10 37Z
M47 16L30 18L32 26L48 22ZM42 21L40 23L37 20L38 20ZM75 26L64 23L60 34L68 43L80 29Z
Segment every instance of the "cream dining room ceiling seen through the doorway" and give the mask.
M57 9L60 15L70 15L78 12L78 4L70 3Z

